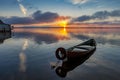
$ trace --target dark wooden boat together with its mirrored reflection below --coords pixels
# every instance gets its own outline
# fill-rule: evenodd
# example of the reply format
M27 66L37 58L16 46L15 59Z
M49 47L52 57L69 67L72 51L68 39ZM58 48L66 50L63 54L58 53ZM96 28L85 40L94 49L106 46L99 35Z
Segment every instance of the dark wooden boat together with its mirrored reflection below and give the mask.
M80 50L75 50L75 48ZM56 74L58 76L64 78L69 71L72 71L77 66L84 63L95 52L95 50L96 42L94 39L90 39L67 50L64 48L58 48L56 50L56 57L59 60L62 60L62 64L59 65L58 61L56 65L52 67L55 68ZM61 56L58 54L61 54Z

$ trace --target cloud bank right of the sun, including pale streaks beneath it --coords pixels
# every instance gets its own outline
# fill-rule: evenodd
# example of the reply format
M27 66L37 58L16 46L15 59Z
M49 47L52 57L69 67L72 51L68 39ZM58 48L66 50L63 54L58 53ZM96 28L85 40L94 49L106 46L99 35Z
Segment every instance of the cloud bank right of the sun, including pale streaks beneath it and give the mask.
M73 22L102 22L102 23L120 23L120 10L98 11L93 15L83 15L72 20Z

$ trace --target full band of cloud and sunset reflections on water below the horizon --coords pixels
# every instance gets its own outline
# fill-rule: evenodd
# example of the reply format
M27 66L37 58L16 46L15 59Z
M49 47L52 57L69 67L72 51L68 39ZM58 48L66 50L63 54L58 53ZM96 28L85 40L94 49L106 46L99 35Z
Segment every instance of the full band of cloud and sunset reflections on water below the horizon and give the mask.
M55 43L60 40L80 39L87 40L94 38L101 44L119 45L119 29L73 29L73 28L37 28L37 29L16 29L15 38L28 38L36 43Z

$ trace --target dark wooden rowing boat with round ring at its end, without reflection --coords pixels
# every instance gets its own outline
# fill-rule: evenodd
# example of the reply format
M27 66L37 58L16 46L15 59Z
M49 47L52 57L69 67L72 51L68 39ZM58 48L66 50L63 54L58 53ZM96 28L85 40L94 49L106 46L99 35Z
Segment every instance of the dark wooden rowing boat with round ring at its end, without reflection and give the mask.
M65 58L67 58L67 60L74 60L89 55L89 53L95 51L95 49L96 41L90 39L68 49L60 47L56 50L55 55L59 60L64 60Z

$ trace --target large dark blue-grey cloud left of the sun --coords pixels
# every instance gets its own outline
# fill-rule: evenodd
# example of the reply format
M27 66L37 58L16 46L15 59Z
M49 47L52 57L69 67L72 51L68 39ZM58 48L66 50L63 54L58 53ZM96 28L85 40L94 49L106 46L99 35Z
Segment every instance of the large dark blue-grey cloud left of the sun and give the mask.
M42 23L42 22L53 22L58 18L59 15L57 13L45 12L42 13L40 10L34 12L32 16L28 17L17 17L12 16L10 18L0 17L5 23L9 24L32 24L32 23Z

